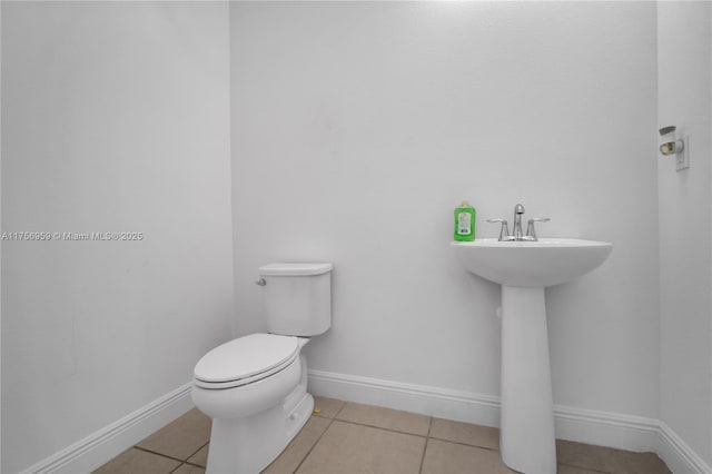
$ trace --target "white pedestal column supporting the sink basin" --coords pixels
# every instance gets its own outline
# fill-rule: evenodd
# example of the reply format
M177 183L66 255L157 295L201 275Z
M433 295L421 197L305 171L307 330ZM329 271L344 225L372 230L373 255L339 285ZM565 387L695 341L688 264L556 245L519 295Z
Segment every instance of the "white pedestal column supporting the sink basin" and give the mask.
M518 472L556 473L544 288L502 286L500 451Z

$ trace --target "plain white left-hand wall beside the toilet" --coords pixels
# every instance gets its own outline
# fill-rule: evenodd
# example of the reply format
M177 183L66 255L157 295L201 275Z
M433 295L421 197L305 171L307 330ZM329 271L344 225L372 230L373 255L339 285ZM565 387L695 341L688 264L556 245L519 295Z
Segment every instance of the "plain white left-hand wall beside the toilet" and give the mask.
M226 3L2 3L2 468L190 381L230 337Z

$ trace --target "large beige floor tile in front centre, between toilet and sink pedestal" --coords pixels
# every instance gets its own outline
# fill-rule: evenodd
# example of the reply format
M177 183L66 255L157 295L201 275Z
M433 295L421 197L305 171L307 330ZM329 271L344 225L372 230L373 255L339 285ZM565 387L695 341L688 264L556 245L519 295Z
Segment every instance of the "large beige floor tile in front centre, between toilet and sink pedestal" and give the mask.
M297 473L417 473L425 438L334 421Z

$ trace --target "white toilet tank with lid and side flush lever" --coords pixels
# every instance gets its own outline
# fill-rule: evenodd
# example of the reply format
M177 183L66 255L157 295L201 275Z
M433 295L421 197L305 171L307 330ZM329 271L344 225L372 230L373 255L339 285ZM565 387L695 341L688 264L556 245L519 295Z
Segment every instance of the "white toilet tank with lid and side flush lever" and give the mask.
M317 336L332 327L332 269L324 264L269 264L263 302L267 330L285 336Z

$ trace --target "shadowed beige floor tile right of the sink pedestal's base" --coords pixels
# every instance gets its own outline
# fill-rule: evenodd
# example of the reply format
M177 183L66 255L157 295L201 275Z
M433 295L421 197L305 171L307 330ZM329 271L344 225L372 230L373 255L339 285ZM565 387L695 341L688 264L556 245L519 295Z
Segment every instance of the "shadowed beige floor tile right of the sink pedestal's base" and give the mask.
M615 474L670 474L670 470L654 453L632 453L612 447L591 446L556 440L560 464Z

